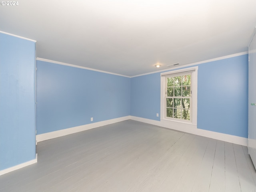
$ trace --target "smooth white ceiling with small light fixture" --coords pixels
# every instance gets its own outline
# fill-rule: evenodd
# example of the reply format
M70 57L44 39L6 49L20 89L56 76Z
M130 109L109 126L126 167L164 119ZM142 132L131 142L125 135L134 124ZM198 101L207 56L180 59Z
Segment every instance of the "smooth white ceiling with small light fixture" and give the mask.
M256 0L20 0L0 6L0 31L36 40L37 57L127 76L247 51L255 27Z

